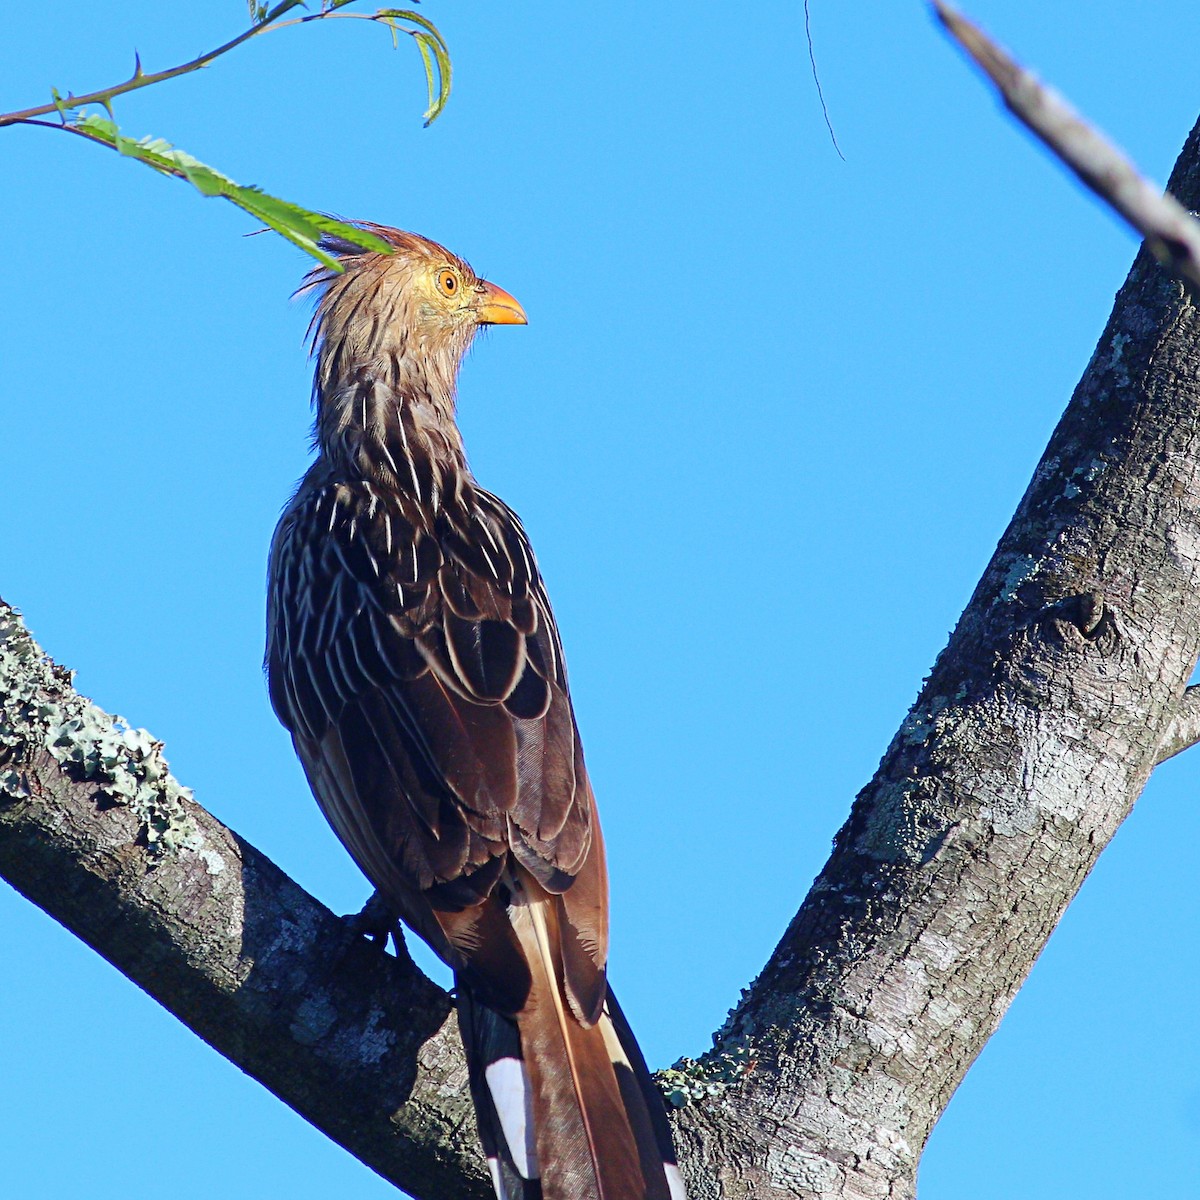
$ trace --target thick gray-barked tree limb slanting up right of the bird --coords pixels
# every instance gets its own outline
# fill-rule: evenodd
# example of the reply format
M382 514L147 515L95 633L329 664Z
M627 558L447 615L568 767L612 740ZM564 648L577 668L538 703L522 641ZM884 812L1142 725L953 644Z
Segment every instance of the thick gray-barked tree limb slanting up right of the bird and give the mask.
M1171 190L1200 206L1200 126ZM913 1194L1200 653L1200 320L1142 251L988 570L682 1114L700 1196Z

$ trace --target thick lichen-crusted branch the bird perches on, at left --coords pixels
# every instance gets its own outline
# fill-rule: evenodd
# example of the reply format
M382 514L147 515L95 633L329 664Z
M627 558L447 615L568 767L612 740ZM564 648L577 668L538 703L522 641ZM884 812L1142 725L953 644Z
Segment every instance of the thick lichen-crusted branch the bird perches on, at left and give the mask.
M450 998L194 803L0 602L0 875L415 1195L491 1195Z

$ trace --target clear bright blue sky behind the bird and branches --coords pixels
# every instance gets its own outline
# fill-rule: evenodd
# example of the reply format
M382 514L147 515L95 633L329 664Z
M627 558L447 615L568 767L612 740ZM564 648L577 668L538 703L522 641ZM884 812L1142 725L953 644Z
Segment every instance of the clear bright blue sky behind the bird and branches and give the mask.
M116 115L242 182L444 241L528 329L474 350L476 475L571 666L653 1064L762 966L944 644L1135 242L917 2L428 0L455 95L361 23L272 34ZM1163 180L1182 0L971 13ZM0 108L226 40L240 0L8 5ZM0 594L97 703L336 911L364 881L265 697L263 574L307 456L302 256L233 206L0 131ZM253 746L247 760L245 746ZM1200 760L1160 769L934 1133L923 1200L1200 1196ZM394 1190L0 888L14 1198Z

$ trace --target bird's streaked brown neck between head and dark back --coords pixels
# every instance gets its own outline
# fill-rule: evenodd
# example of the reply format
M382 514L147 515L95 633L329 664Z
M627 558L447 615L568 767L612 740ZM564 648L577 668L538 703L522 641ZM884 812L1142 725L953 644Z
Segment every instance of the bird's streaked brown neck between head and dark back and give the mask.
M320 366L316 440L338 474L434 511L469 479L452 373L392 359L323 378Z

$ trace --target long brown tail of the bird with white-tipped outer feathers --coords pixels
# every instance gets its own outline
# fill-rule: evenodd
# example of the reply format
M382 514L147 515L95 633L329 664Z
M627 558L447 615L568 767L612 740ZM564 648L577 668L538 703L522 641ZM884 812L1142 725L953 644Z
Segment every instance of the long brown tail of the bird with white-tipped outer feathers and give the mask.
M608 991L584 1025L564 997L553 914L510 910L533 977L515 1019L460 980L460 1024L498 1200L686 1200L662 1100Z

